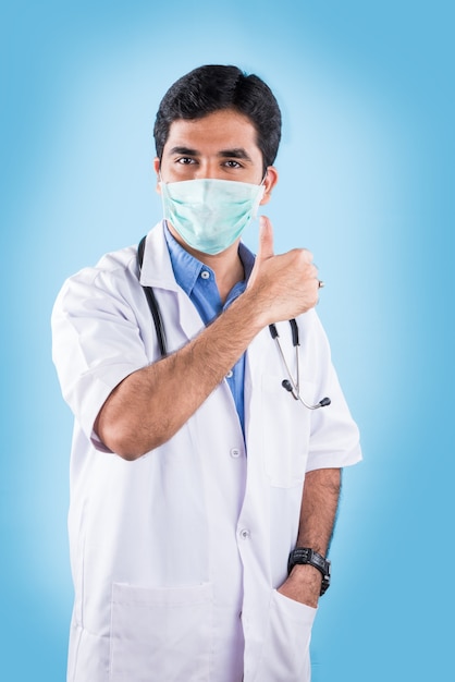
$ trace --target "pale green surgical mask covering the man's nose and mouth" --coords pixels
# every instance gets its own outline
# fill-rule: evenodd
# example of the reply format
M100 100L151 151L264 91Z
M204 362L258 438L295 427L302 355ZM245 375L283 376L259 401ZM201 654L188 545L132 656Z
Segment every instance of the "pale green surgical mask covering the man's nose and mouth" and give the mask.
M263 184L235 180L160 182L164 218L193 248L219 254L235 242L256 214Z

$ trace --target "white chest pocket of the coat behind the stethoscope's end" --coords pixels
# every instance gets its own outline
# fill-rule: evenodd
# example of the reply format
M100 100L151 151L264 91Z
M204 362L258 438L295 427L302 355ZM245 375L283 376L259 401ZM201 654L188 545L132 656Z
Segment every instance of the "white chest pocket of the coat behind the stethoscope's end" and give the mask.
M262 376L262 452L271 485L290 488L305 477L310 411L294 400L281 381L274 375ZM312 383L300 382L300 391L306 401L312 400Z

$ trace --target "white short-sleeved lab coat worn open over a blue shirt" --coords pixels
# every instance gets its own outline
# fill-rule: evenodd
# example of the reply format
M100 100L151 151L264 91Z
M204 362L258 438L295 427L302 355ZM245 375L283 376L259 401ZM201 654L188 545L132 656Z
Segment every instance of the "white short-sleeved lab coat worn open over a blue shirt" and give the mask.
M175 282L161 224L147 239L142 283L153 287L171 351L201 330ZM287 395L265 329L246 356L247 456L223 381L169 442L127 462L93 425L111 390L159 357L136 249L109 254L65 282L52 326L75 416L69 682L309 680L316 610L276 587L295 546L306 471L353 464L360 450L317 314L298 325L303 394L330 395L329 407L310 412ZM290 326L278 328L294 367Z

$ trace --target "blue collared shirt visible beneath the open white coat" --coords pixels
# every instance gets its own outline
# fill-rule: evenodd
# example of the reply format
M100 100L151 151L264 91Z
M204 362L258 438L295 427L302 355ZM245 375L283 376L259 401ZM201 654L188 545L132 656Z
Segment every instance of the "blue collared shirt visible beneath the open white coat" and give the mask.
M183 246L181 246L172 236L165 223L164 234L168 242L175 280L179 287L181 287L193 301L205 325L208 325L245 291L253 266L255 265L255 256L245 246L245 244L239 244L238 255L244 266L245 279L237 282L231 289L223 305L218 291L213 270L188 254L188 252L185 251ZM241 421L242 430L245 434L244 378L245 353L226 375L226 380L234 398L235 407Z

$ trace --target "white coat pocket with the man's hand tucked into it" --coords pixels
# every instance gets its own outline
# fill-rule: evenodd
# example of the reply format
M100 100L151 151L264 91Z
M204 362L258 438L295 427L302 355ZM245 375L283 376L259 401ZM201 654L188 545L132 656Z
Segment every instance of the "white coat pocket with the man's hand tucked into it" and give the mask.
M257 682L309 682L309 644L316 613L317 609L273 590Z

